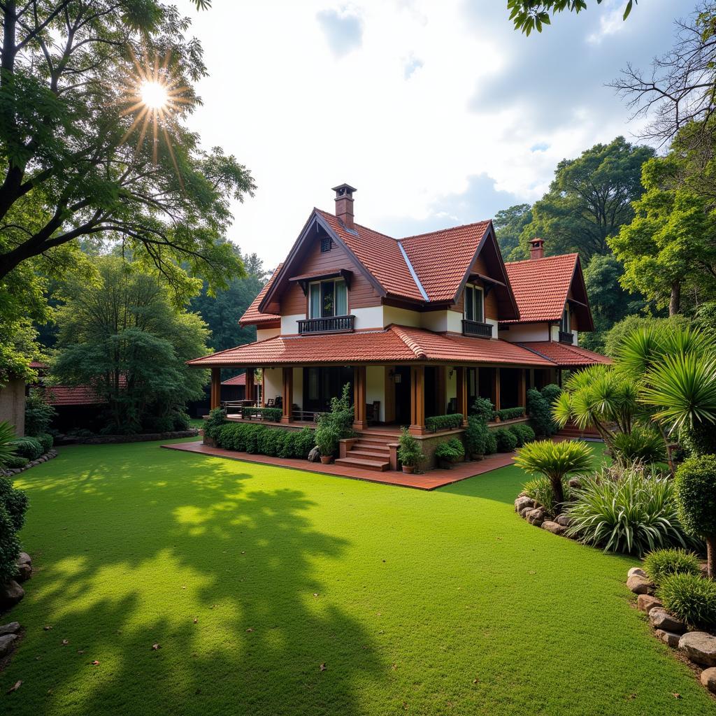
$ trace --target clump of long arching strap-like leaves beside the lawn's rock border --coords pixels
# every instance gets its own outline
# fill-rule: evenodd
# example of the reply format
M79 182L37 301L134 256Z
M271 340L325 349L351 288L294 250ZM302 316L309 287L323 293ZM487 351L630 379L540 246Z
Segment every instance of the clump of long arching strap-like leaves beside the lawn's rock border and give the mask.
M642 556L657 548L687 546L677 514L674 483L640 465L581 478L567 513L569 536L605 552Z

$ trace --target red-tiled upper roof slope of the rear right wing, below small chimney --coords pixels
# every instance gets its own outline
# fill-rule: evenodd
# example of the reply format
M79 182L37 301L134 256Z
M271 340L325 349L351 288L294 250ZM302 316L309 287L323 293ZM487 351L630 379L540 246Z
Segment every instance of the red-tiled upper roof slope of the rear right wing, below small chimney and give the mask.
M561 319L577 258L576 253L565 253L562 256L528 258L525 261L505 263L520 309L520 323Z

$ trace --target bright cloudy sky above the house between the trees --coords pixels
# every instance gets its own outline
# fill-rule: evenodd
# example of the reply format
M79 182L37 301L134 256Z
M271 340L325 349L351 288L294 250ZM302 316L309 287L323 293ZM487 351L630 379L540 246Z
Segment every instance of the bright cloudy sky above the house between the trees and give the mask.
M256 180L228 238L272 269L349 183L355 221L410 236L543 195L556 164L642 120L606 82L672 45L684 0L625 0L513 29L504 0L213 0L190 34L209 76L188 122Z

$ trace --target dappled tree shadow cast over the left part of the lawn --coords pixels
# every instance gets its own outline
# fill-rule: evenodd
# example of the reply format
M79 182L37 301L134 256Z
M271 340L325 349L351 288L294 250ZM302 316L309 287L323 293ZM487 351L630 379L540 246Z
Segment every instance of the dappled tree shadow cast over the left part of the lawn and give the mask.
M29 631L3 685L25 683L7 712L359 714L385 665L332 599L349 543L315 528L301 490L176 455L135 480L131 457L89 468L90 493L62 476L31 490L67 524L17 609Z

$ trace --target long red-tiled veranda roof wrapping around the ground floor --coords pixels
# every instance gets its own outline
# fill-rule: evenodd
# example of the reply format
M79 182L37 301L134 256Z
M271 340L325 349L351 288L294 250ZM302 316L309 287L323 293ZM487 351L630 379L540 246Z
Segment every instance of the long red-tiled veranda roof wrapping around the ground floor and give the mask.
M405 326L325 336L277 336L188 361L193 367L439 361L550 367L517 344Z

